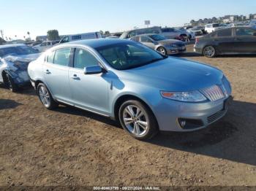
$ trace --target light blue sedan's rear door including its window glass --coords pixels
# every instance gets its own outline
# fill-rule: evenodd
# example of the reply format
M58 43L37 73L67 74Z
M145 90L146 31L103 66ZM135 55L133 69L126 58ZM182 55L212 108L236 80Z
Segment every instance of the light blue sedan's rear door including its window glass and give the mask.
M69 102L71 93L69 88L69 62L72 48L65 47L50 52L43 65L45 83L59 101Z

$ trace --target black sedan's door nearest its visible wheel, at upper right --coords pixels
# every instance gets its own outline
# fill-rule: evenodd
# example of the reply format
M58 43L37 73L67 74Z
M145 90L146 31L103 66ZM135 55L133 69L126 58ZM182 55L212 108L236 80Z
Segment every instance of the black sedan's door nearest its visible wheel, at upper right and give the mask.
M232 28L217 31L214 43L217 44L219 53L232 53L234 51L234 36Z

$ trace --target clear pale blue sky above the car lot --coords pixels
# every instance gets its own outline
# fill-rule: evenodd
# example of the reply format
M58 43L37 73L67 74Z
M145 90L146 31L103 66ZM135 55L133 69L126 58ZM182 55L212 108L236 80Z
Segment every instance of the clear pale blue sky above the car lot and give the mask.
M118 32L151 26L183 26L190 20L256 13L256 0L0 0L0 30L4 37L23 39L92 31ZM17 35L17 38L15 38Z

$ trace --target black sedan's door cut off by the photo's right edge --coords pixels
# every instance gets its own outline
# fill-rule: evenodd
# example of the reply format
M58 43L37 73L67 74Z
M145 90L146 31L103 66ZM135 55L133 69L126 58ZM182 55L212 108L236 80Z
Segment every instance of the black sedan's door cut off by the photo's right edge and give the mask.
M252 28L235 28L234 47L239 53L256 53L256 30Z

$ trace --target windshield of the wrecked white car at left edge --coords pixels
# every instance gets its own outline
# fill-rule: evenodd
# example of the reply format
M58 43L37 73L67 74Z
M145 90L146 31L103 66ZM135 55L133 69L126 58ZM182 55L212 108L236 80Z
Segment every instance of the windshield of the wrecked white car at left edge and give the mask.
M4 47L0 48L0 57L4 58L7 55L31 55L37 54L38 51L28 46L17 46L17 47Z

